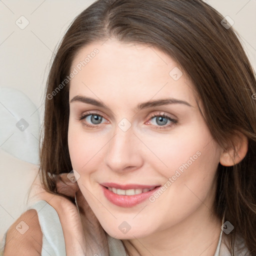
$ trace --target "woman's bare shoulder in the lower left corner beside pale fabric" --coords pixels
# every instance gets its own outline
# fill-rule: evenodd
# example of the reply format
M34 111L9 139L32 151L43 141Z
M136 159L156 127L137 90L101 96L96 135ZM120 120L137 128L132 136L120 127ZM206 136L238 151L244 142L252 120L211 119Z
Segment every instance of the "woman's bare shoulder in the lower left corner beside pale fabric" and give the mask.
M37 211L29 209L9 227L5 239L4 256L40 256L41 247L42 232Z

